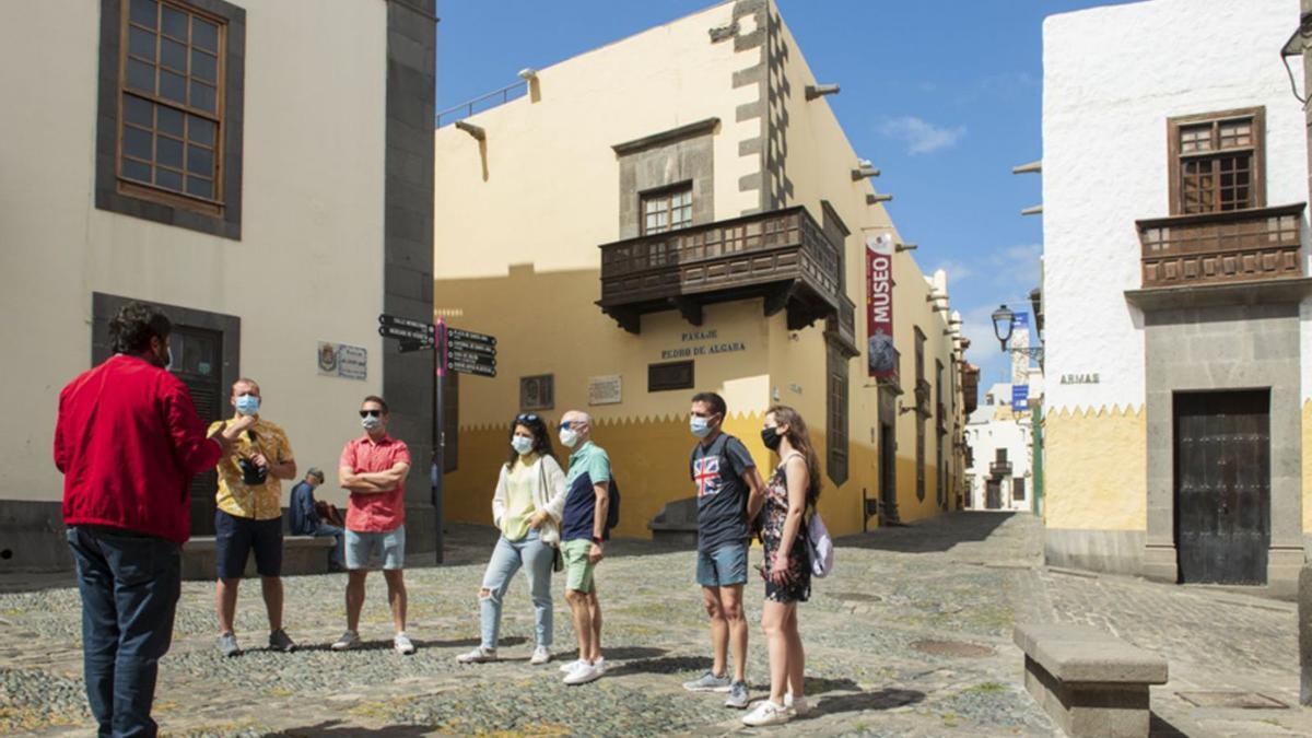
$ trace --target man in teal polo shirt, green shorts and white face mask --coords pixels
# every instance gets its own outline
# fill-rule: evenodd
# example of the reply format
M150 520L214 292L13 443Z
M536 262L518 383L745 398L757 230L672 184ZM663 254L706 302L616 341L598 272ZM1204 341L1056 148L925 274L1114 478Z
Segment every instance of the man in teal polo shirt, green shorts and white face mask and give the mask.
M565 474L565 510L560 519L560 554L565 563L565 601L579 636L579 661L567 664L565 684L586 684L606 672L601 658L601 604L593 570L607 538L610 458L592 443L592 418L571 410L560 419L560 443L573 450Z

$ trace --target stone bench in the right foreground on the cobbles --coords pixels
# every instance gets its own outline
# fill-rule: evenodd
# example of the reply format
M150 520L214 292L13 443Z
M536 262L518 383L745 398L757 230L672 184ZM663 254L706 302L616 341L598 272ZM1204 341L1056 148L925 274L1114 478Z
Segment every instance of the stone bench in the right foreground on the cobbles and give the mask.
M1073 737L1148 735L1148 685L1166 659L1086 625L1017 625L1025 688Z

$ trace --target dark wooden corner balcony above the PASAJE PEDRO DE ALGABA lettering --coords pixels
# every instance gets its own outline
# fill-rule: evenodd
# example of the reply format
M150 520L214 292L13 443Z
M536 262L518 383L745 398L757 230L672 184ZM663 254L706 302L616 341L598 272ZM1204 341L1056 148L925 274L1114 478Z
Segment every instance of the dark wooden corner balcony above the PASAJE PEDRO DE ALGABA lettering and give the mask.
M842 332L838 248L796 206L601 247L597 305L638 334L642 315L678 310L702 324L702 307L765 298L765 314L787 310L790 330L837 316ZM851 305L846 302L846 305ZM855 332L855 318L850 319Z

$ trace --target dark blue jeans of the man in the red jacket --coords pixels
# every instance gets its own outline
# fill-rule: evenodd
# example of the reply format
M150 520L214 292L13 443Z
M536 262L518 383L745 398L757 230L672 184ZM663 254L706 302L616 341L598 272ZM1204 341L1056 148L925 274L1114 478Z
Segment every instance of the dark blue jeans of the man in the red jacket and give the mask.
M159 659L173 640L181 549L98 525L68 529L83 599L87 700L100 735L155 735Z

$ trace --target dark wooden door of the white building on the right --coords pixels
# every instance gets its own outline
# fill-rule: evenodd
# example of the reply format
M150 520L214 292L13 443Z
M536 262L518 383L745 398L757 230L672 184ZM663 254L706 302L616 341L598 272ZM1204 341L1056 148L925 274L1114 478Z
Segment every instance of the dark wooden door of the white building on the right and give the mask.
M1174 410L1179 580L1265 584L1270 393L1177 394Z

